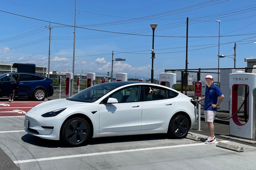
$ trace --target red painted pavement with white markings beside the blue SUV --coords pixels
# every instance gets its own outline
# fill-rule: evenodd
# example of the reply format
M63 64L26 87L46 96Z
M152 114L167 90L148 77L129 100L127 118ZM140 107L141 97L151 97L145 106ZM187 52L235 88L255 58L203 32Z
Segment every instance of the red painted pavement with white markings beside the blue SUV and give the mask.
M0 101L0 117L2 116L25 116L35 105L44 101Z

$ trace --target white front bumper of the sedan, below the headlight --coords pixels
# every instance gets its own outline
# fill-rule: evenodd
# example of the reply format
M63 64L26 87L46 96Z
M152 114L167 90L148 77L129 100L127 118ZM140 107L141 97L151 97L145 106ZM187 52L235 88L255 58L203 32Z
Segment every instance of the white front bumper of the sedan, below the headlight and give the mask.
M29 128L25 127L25 131L43 139L59 140L60 129L65 118L64 115L42 117L41 114L27 112L25 119L29 120Z

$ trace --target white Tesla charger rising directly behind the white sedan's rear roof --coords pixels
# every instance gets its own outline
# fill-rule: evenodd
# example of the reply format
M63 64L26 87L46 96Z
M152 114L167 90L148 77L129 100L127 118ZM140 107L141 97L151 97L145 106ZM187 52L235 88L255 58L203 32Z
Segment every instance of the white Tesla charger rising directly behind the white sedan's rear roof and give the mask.
M163 86L169 86L175 89L176 85L176 74L175 73L160 73L159 74L159 84Z

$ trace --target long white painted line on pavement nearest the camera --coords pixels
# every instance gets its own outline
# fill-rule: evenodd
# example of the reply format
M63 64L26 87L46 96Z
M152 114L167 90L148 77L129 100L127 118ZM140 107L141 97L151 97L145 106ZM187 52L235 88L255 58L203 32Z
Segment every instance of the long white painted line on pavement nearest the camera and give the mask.
M39 158L39 159L27 159L27 160L13 161L13 162L15 164L19 164L19 163L27 163L27 162L48 161L48 160L55 160L55 159L66 159L66 158L76 158L76 157L84 157L84 156L96 156L96 155L106 155L106 154L113 154L113 153L135 152L135 151L177 148L177 147L198 146L198 145L207 145L207 144L206 143L194 143L194 144L186 144L186 145L161 146L161 147L152 147L152 148L141 148L141 149L118 150L118 151L109 151L109 152L86 153L86 154L79 154L79 155L56 156L56 157Z

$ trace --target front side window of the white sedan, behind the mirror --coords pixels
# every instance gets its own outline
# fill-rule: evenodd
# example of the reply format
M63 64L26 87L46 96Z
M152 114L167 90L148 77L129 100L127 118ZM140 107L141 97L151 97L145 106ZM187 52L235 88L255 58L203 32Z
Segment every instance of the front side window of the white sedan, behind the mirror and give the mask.
M111 94L109 97L116 98L118 103L140 101L140 86L123 88Z

